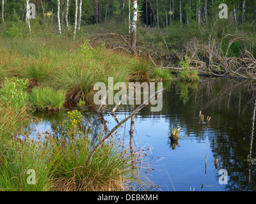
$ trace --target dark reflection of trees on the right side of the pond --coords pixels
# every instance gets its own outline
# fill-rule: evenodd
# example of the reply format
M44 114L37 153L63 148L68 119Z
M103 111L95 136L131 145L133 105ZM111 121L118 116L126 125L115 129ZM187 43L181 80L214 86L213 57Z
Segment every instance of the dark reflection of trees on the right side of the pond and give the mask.
M255 83L213 78L200 82L198 89L189 93L187 106L193 106L196 113L202 110L211 114L214 119L212 127L218 128L218 131L209 133L209 140L213 156L220 158L218 169L224 168L230 176L226 186L229 191L256 189L252 182L256 179L255 166L246 162L248 154L255 157L252 123ZM192 111L186 111L193 115ZM217 174L216 180L219 176Z

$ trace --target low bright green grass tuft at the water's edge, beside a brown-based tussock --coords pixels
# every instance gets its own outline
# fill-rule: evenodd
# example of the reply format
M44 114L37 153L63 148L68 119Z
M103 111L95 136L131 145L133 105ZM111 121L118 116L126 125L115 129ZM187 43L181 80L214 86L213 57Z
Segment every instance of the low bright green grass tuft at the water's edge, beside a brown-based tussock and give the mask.
M39 110L60 110L65 103L66 92L56 91L51 87L35 87L29 94L29 99L34 108Z

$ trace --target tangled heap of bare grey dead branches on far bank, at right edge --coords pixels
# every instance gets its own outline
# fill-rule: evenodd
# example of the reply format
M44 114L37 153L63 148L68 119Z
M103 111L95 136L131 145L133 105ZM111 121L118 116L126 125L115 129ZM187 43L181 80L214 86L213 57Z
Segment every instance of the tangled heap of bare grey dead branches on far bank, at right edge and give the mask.
M221 49L223 41L228 41L227 51L223 53ZM256 75L256 59L253 57L252 51L244 48L240 57L229 57L228 53L233 43L237 41L252 42L244 36L237 34L227 34L221 41L216 41L209 36L208 43L202 44L194 39L188 43L186 54L190 57L190 65L198 68L199 73L207 73L216 77L241 77L255 78Z

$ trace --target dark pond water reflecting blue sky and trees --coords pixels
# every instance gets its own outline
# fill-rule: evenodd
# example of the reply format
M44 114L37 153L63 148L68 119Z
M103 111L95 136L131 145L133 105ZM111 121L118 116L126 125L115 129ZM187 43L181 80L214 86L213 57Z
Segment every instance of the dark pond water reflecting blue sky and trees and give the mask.
M255 83L220 78L202 78L193 85L173 82L165 85L161 112L150 112L148 105L136 115L134 145L150 148L147 156L150 163L146 166L150 170L145 168L145 173L159 186L153 190L256 190L256 165L246 161L248 154L255 158L252 124ZM107 106L104 112L109 130L116 125L110 114L112 108ZM204 119L211 116L209 125L200 126L200 110ZM116 119L120 121L129 113L131 107L122 105L115 112ZM83 115L86 119L97 120L100 126L102 120L94 112L86 110ZM33 124L35 134L51 131L64 117L63 112L38 116L43 120ZM169 138L173 127L181 127L176 143ZM131 120L128 120L118 129L120 137L129 141L130 129ZM216 157L218 166L214 165Z

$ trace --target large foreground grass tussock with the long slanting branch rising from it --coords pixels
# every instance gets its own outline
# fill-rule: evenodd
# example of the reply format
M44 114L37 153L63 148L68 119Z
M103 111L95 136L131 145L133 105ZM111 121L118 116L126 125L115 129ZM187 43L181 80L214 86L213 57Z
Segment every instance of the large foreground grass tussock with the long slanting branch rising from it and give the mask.
M135 179L139 174L134 163L136 160L133 160L135 157L128 149L121 149L122 143L116 138L106 141L88 161L93 143L102 139L100 133L94 136L92 130L88 130L72 140L51 138L54 190L125 191L132 182L140 182Z

